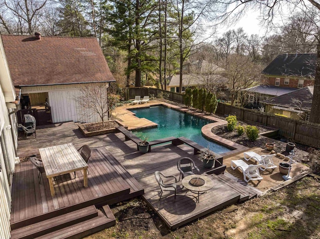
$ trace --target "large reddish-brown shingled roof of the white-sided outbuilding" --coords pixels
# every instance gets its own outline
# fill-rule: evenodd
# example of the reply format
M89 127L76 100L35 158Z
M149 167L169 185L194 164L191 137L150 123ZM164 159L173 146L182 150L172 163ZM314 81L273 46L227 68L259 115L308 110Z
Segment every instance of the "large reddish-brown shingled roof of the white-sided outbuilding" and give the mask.
M15 86L115 81L92 37L2 35Z

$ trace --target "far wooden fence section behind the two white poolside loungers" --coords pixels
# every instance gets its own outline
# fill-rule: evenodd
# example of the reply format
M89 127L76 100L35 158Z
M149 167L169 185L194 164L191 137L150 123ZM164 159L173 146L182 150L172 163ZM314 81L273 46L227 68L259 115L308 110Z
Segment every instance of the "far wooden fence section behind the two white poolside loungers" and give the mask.
M183 94L180 93L147 87L125 88L125 100L134 99L136 95L139 95L142 98L145 95L150 96L152 94L154 97L162 95L162 97L167 100L183 104Z

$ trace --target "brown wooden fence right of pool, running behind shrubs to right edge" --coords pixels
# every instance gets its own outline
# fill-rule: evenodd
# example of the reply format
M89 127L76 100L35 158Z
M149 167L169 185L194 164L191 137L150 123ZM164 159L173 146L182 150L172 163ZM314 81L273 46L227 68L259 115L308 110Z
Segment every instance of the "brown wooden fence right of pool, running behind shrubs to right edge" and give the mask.
M320 148L320 124L270 115L265 112L240 108L218 103L217 114L235 115L241 121L254 122L260 125L278 129L281 137L290 141Z

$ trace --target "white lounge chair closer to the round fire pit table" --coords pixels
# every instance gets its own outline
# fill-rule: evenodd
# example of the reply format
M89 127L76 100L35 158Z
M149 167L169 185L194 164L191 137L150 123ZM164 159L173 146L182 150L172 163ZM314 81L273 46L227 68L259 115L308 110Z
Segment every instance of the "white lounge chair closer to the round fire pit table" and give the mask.
M243 173L243 180L245 182L249 182L251 180L262 180L263 178L260 176L259 168L261 164L250 164L247 165L243 160L231 160L231 169L235 170L239 168Z

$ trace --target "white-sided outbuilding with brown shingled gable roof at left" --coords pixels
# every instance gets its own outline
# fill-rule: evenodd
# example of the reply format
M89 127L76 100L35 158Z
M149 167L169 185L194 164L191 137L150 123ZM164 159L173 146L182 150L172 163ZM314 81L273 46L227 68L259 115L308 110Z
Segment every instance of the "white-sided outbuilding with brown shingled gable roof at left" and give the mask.
M76 98L88 84L114 82L93 37L2 35L14 87L21 89L21 109L50 106L52 123L98 122L82 114Z

